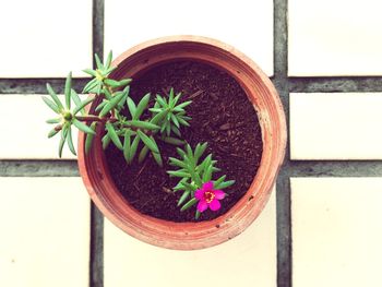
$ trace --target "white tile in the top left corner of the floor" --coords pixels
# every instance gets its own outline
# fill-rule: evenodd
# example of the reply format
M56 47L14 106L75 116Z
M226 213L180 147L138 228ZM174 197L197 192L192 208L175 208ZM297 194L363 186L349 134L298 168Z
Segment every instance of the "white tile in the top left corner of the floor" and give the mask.
M92 0L1 5L0 77L64 77L92 67Z

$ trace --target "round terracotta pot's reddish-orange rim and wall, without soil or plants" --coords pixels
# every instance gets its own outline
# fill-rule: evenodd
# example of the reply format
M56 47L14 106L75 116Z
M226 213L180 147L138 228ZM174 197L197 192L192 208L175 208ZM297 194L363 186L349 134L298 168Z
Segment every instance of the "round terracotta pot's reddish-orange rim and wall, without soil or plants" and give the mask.
M112 62L112 65L118 67L112 77L134 79L153 65L186 59L208 63L235 77L258 113L263 155L258 174L243 198L226 214L213 220L172 223L143 215L123 199L109 175L99 139L94 141L91 153L85 155L84 135L80 133L79 166L92 200L119 228L154 246L192 250L234 238L259 216L283 163L287 133L283 106L268 77L244 55L214 39L175 36L141 44Z

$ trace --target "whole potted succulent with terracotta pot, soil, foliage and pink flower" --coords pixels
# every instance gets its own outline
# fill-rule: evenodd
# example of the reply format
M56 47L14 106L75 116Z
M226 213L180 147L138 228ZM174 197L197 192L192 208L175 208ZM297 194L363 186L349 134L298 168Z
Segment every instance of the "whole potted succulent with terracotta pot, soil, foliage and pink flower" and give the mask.
M195 36L96 62L84 89L95 95L81 101L68 77L67 107L49 85L53 100L45 101L60 116L49 121L50 136L61 131L60 153L64 142L75 153L71 127L82 131L80 174L102 213L169 249L215 246L247 228L285 155L285 116L268 77L232 47Z

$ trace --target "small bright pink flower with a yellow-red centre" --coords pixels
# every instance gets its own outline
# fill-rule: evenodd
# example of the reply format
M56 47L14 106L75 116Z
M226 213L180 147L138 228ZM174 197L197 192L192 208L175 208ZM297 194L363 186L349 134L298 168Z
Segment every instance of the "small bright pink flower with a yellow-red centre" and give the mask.
M203 187L195 191L195 199L199 200L198 211L202 213L208 207L211 211L218 211L220 208L219 200L223 200L225 195L222 190L214 190L212 181L203 183Z

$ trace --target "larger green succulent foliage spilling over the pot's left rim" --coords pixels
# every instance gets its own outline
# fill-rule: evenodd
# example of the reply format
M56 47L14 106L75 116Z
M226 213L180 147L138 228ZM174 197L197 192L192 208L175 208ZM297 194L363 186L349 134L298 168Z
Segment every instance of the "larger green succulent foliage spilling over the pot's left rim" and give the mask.
M84 70L92 79L85 85L83 93L93 94L89 98L81 100L72 88L72 74L69 73L64 85L64 105L60 101L52 87L47 84L51 98L43 97L46 105L58 115L47 122L56 124L48 134L49 137L61 132L59 155L62 154L64 143L75 154L72 141L72 125L84 132L85 152L92 148L92 143L97 131L102 131L103 147L115 144L128 164L131 164L138 155L138 160L143 162L151 155L159 166L163 166L160 151L156 143L162 140L166 143L182 146L184 141L180 136L180 127L189 125L190 117L186 116L184 108L191 101L180 103L181 94L175 96L174 88L167 97L157 95L154 106L151 106L151 95L144 95L139 103L129 96L131 79L116 80L112 77L112 52L103 63L95 55L96 68ZM86 113L85 107L92 101L97 103L94 112ZM72 101L74 105L72 105ZM153 105L153 104L152 104ZM127 109L124 109L127 107ZM152 108L150 108L152 107ZM126 110L129 115L126 115ZM152 112L147 112L151 110ZM99 129L96 129L99 125ZM172 135L172 134L174 135Z

